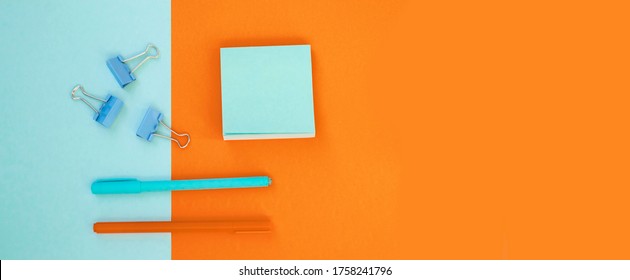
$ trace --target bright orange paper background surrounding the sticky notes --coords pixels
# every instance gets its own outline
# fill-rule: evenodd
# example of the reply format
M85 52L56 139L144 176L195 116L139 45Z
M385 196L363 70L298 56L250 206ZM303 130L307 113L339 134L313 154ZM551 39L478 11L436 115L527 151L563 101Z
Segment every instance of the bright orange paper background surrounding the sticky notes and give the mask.
M425 3L423 3L425 2ZM432 3L437 2L437 3ZM624 1L173 1L173 259L630 258ZM226 142L219 48L310 44L317 136Z

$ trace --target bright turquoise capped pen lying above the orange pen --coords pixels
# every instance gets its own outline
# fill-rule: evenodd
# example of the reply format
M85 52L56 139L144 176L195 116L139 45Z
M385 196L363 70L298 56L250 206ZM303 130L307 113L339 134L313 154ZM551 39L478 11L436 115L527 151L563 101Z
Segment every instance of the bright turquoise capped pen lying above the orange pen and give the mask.
M140 181L137 179L98 180L92 183L93 194L131 194L159 191L215 190L261 188L271 185L268 176L198 180Z

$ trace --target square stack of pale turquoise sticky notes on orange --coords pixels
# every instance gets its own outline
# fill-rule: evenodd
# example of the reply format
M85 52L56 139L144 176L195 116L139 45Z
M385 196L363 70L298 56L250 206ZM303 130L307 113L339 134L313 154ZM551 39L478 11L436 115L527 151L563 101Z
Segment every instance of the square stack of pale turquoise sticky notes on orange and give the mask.
M311 46L221 48L223 139L315 137Z

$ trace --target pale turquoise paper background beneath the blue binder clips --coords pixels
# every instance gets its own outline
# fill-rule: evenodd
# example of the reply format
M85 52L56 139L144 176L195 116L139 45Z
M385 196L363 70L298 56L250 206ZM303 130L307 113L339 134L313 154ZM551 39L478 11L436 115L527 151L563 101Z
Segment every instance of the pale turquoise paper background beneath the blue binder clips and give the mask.
M1 259L170 259L169 234L92 231L169 220L170 193L90 193L98 178L170 179L170 141L135 135L149 106L170 123L170 23L170 1L0 0ZM148 43L160 58L121 89L105 61ZM124 101L112 127L70 98L79 83Z

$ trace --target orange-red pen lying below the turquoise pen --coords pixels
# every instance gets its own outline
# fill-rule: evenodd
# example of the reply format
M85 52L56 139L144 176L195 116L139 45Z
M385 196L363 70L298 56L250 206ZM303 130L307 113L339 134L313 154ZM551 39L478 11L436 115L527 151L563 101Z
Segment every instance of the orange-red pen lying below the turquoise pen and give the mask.
M270 221L203 221L203 222L98 222L96 233L158 233L158 232L228 232L269 233Z

